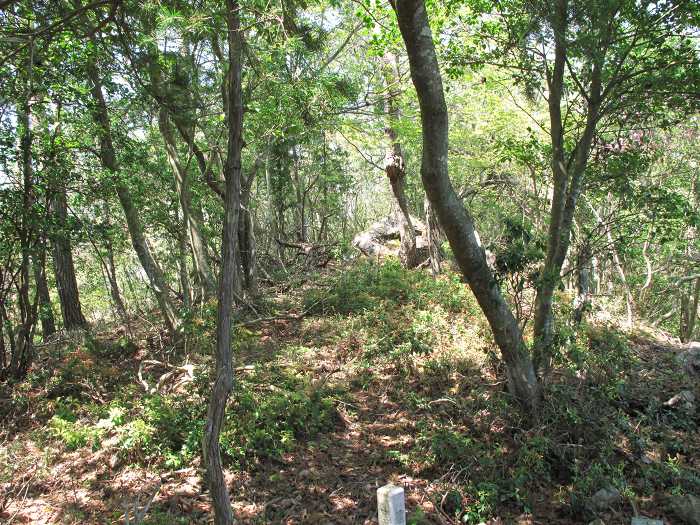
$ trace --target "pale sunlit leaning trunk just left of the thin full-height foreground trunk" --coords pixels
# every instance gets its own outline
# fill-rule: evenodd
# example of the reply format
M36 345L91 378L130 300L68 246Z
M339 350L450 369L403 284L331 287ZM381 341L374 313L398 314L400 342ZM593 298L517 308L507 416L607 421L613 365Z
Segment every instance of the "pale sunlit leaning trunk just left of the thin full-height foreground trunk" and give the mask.
M165 143L165 152L168 162L173 170L175 178L175 190L180 201L180 208L184 217L185 225L189 233L190 246L192 248L192 259L195 264L197 277L204 288L205 295L210 296L216 290L216 279L211 270L209 255L206 250L206 242L202 236L201 221L197 218L197 213L192 210L192 193L187 171L178 160L175 137L172 133L167 110L162 107L158 116L158 126Z

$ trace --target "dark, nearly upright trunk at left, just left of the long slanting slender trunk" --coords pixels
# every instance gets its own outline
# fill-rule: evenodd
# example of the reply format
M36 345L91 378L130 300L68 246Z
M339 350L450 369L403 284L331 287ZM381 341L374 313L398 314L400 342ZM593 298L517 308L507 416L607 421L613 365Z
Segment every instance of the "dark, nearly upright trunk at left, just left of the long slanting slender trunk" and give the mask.
M80 306L78 281L75 277L75 264L73 263L68 226L68 203L64 188L56 191L52 208L58 227L58 231L53 236L53 262L63 327L66 330L85 328L87 321Z

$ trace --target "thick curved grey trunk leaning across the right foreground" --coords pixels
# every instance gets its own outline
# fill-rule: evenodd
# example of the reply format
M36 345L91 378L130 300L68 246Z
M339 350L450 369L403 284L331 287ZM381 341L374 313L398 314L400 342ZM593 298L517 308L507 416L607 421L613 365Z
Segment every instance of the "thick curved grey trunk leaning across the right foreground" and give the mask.
M424 0L394 0L392 5L406 44L420 105L423 186L501 349L510 390L526 410L535 414L540 388L520 327L486 263L484 250L476 238L474 221L448 175L447 105Z

